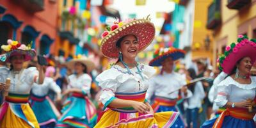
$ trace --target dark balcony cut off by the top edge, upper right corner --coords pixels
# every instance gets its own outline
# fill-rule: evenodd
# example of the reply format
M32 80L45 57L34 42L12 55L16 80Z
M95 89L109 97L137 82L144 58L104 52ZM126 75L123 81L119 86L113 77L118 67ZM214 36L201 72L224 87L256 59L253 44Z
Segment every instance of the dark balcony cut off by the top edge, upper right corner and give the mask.
M228 0L227 7L230 9L239 10L246 6L246 4L251 3L252 0Z

